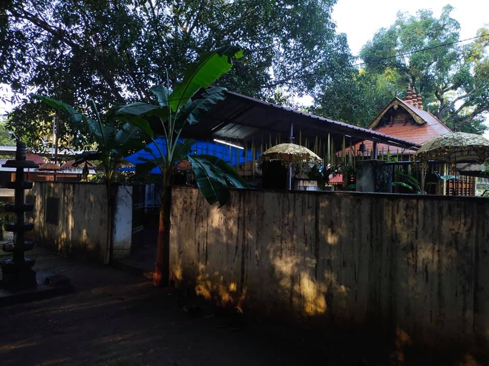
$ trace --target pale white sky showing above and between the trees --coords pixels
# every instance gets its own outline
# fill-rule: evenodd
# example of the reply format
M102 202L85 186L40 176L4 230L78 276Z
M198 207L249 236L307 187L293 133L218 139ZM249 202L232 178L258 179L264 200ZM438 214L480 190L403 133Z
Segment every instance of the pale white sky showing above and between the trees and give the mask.
M474 37L478 28L489 23L487 0L338 0L333 8L333 20L337 32L346 34L351 52L357 55L379 28L388 27L395 21L398 11L414 15L418 9L431 9L434 16L439 17L447 4L454 7L451 16L460 23L460 39ZM5 93L5 90L0 90L0 93ZM301 100L302 104L311 102L311 98ZM0 102L0 114L5 114L11 108ZM489 117L486 124L489 126ZM485 136L489 138L489 131Z

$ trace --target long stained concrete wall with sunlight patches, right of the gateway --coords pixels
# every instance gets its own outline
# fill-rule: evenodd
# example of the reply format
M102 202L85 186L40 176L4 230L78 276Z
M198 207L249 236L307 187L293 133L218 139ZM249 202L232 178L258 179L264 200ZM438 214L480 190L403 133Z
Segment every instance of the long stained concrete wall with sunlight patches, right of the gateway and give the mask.
M170 277L245 311L486 347L489 199L234 190L218 208L175 187Z

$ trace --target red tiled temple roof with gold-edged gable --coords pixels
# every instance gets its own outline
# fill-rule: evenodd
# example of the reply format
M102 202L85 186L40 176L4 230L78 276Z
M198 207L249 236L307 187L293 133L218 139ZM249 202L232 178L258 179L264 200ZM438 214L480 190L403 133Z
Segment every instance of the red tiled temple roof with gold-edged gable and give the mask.
M397 107L396 107L397 106ZM408 112L415 123L393 123L393 124L383 124L382 126L378 126L381 118L391 110L391 108L403 108L406 112ZM370 129L373 129L377 132L381 132L383 134L393 136L396 138L400 138L403 140L412 141L418 145L422 145L426 141L432 139L433 137L443 135L445 133L451 132L451 130L443 124L437 117L432 115L430 112L415 107L411 103L407 103L399 98L394 98L372 121L370 124ZM370 154L370 150L373 147L372 141L364 141L368 153ZM358 146L356 146L356 150L358 151ZM414 154L415 151L409 149L397 149L393 146L388 146L385 144L378 144L378 150L390 149L392 154Z

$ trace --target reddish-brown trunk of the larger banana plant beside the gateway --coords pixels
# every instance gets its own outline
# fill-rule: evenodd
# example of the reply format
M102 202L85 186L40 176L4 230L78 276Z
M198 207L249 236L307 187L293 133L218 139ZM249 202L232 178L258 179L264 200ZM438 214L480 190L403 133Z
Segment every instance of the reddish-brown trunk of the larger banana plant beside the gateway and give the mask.
M156 245L156 259L153 285L168 286L170 277L170 207L172 188L164 187L161 190L161 203L159 206L158 242Z

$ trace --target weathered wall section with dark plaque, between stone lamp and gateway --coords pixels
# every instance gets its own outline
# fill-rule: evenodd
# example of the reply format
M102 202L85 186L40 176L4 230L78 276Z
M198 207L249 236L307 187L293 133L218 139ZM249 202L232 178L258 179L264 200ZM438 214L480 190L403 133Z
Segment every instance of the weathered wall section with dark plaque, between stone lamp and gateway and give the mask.
M64 255L103 262L106 256L107 199L103 184L35 182L34 230L29 236ZM47 199L60 198L58 223L46 222Z

